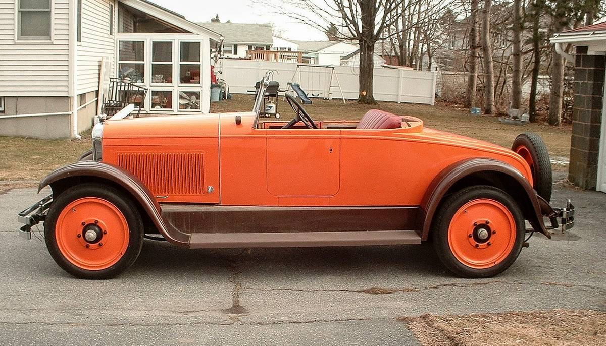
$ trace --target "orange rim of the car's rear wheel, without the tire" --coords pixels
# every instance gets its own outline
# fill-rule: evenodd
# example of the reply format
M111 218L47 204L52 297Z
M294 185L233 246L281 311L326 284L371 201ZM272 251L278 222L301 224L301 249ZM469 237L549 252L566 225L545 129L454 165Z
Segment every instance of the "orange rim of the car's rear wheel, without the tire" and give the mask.
M507 258L516 242L516 221L502 203L469 201L454 214L448 227L448 246L467 267L487 269Z

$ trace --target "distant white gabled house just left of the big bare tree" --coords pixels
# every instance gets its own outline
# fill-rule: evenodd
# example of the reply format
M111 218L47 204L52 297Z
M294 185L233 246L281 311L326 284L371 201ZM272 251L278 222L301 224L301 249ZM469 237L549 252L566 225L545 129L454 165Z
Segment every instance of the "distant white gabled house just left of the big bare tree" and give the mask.
M336 41L293 41L304 52L303 62L320 65L341 65L341 58L358 50L358 45Z

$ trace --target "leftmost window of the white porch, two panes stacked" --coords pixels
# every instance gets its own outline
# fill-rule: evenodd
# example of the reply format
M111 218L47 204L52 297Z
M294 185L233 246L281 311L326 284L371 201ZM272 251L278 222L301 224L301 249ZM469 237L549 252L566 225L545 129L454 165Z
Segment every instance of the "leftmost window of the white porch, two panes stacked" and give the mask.
M118 70L122 79L145 82L145 41L118 42Z

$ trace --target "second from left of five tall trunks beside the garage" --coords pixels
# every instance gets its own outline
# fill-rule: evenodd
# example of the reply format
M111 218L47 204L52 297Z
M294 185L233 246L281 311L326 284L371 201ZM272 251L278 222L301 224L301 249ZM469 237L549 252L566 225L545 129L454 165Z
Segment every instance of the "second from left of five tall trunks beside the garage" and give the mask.
M482 53L484 54L484 113L494 111L494 66L490 40L490 6L492 0L484 0L482 8Z

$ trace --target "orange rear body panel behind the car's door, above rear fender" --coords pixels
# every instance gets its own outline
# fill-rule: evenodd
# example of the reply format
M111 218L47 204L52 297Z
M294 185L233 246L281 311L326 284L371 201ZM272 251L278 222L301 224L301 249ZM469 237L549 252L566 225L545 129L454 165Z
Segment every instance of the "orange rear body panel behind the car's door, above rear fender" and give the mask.
M416 206L443 169L468 158L494 158L530 175L520 158L483 142L424 134L341 130L341 188L331 206Z

